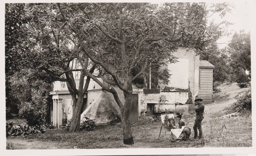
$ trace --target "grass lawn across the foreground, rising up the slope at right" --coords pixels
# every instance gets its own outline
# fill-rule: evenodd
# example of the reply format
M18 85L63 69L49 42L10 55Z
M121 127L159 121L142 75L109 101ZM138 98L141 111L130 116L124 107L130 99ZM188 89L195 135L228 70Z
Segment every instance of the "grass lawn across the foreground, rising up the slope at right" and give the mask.
M32 141L40 141L42 149L57 148L172 148L172 147L251 147L252 146L252 121L251 115L228 115L231 114L227 108L236 101L236 96L240 89L235 84L232 86L222 85L222 92L214 94L216 101L205 105L205 115L202 121L204 138L194 139L193 125L195 114L184 113L183 119L187 126L191 128L191 135L188 141L170 142L170 133L161 133L160 120L150 118L140 120L132 125L134 145L124 145L122 140L121 125L108 125L96 128L92 132L27 136L25 138L7 138L9 146L14 149L26 149L26 146L15 146L15 141L19 144L26 144ZM30 140L28 142L28 140ZM39 143L37 143L39 144ZM48 145L48 146L43 146ZM49 147L50 146L50 147ZM40 147L40 146L39 146ZM34 149L38 149L35 147Z

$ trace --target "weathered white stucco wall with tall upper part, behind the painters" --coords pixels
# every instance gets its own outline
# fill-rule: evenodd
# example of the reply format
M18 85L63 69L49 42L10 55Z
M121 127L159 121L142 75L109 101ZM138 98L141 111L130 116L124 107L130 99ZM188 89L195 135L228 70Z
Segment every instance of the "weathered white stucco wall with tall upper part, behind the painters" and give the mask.
M147 103L155 103L156 112L181 111L189 112L193 105L175 105L176 102L185 104L188 99L188 92L162 92L165 87L171 87L173 90L177 89L190 89L193 100L198 93L199 83L199 56L196 56L193 50L187 51L186 49L179 48L173 54L178 58L175 64L167 64L162 66L161 69L168 68L170 70L170 83L164 85L159 83L159 94L144 94L143 90L134 87L134 93L139 93L139 115L147 110ZM189 87L188 87L189 86ZM164 102L163 102L164 101Z

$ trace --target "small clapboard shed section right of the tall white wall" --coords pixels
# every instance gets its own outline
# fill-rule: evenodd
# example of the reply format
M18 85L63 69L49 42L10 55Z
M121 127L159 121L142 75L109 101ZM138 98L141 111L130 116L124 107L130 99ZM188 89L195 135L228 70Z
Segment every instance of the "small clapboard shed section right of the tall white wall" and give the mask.
M213 102L212 82L214 65L206 60L200 60L199 63L199 91L198 96L203 99L205 104Z

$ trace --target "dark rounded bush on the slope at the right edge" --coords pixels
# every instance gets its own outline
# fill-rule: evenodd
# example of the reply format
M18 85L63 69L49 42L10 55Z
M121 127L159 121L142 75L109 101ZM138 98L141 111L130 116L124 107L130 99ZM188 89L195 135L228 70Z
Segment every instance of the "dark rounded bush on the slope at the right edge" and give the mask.
M234 102L231 106L232 111L244 113L251 112L251 90L239 92L235 97L237 102Z

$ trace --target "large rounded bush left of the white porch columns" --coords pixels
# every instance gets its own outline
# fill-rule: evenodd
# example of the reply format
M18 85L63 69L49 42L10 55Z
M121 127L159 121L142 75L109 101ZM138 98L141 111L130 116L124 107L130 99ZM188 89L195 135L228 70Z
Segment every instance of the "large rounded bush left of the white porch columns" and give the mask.
M19 116L24 117L29 125L44 124L50 119L51 85L34 79L32 70L20 70L10 79L11 94L17 99Z

